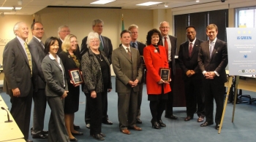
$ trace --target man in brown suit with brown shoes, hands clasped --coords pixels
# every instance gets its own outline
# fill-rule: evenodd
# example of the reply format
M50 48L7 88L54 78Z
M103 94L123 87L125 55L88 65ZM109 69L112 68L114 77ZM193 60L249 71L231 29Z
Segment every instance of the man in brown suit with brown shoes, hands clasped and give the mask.
M138 106L138 83L142 77L143 66L140 62L140 53L131 48L130 32L121 32L122 45L113 50L112 63L116 74L116 92L118 93L118 120L119 129L124 134L132 130L142 130L135 125Z

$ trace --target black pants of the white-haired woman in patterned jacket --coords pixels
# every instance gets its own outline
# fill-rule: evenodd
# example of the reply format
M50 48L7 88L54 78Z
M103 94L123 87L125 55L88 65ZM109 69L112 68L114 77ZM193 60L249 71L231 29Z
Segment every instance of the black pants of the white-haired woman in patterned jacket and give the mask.
M91 98L91 93L85 93L90 111L90 135L102 132L102 93L98 92L96 98Z

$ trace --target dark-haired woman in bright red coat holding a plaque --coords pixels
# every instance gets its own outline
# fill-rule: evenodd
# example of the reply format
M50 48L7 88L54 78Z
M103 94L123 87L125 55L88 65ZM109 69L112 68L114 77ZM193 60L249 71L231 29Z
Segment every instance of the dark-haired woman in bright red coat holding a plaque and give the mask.
M145 65L147 68L146 87L148 100L150 101L150 111L152 115L151 123L155 129L166 127L162 122L162 113L165 110L165 102L168 99L167 93L170 92L170 78L160 76L161 68L165 68L165 74L170 74L166 58L165 47L159 45L162 39L161 33L157 29L148 31L146 36L147 47L143 50ZM167 77L167 80L166 80ZM170 76L169 76L170 77ZM164 79L165 78L165 79Z

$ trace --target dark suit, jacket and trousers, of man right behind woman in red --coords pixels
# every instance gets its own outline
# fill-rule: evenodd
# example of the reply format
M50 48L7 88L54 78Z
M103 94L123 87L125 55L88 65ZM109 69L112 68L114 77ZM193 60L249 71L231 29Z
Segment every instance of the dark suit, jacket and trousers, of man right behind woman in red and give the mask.
M170 55L170 59L171 61L169 61L169 68L171 68L171 79L172 81L170 82L170 89L172 90L171 92L168 93L168 100L166 102L166 109L165 109L165 115L166 116L171 116L173 115L173 87L174 87L174 77L176 74L176 65L175 65L175 53L176 53L176 43L177 43L177 38L175 36L169 36L170 39L170 44L171 44L171 55ZM160 40L160 44L163 46L163 42Z

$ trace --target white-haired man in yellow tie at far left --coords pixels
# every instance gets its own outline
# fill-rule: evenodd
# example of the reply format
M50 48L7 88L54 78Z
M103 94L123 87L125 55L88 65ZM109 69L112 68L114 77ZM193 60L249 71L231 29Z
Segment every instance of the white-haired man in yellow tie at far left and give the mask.
M15 39L4 47L4 92L10 95L10 110L26 141L29 138L29 123L32 104L33 77L37 68L32 66L31 52L26 39L29 28L24 22L14 25Z

